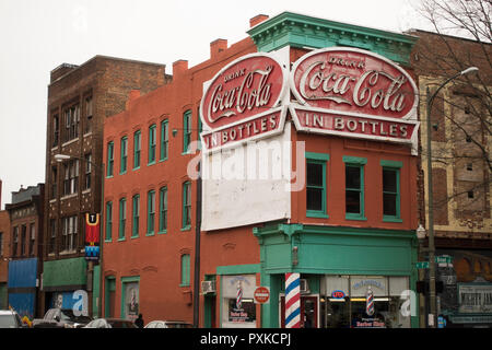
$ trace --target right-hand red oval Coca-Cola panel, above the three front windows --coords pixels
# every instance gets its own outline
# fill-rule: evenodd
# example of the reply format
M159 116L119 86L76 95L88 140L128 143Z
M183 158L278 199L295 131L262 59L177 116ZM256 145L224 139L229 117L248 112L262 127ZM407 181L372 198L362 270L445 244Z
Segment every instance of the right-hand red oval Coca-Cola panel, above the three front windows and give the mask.
M390 60L356 48L312 51L291 71L296 100L317 108L409 118L418 104L412 78Z

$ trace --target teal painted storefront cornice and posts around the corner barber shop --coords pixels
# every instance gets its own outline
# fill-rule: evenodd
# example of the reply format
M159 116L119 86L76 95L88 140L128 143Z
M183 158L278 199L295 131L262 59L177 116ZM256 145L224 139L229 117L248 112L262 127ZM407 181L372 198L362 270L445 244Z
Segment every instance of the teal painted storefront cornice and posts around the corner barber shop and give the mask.
M279 327L279 295L285 272L308 279L311 292L320 292L328 275L408 277L414 290L418 241L413 231L278 224L255 229L260 245L261 285L271 301L262 305L261 326ZM418 307L417 307L418 310ZM418 327L418 315L411 317Z

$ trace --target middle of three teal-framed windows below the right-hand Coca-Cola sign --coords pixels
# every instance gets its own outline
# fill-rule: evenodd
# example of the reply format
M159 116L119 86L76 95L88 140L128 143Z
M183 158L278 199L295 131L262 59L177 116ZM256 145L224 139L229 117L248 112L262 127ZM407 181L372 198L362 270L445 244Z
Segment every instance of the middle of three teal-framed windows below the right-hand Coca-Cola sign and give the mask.
M367 220L364 201L364 165L367 159L343 156L345 163L345 219Z

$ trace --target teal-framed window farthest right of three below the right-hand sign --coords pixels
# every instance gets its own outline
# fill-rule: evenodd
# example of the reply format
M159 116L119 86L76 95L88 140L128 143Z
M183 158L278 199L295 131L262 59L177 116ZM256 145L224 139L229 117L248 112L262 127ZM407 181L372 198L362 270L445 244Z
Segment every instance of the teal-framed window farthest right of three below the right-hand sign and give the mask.
M383 221L402 222L400 197L400 170L402 162L380 161L383 182Z

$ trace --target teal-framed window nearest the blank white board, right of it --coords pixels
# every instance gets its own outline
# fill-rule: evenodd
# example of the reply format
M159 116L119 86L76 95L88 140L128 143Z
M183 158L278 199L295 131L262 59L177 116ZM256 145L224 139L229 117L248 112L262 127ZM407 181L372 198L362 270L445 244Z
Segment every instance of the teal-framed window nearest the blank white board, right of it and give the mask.
M306 217L328 218L326 202L326 163L329 155L306 152Z

